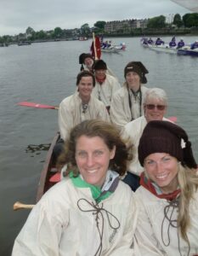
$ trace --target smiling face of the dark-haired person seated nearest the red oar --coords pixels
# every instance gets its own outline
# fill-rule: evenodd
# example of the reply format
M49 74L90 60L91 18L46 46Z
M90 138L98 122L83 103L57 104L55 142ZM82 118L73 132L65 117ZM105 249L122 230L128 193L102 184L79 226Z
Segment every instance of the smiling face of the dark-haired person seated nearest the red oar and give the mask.
M93 78L82 77L78 86L79 96L82 99L82 102L87 102L91 96L93 90Z

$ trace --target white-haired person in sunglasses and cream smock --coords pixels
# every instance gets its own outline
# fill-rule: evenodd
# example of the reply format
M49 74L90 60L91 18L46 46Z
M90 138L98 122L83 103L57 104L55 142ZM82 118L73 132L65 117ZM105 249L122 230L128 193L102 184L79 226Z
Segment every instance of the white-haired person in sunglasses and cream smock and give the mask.
M167 112L167 94L161 88L151 88L145 92L144 115L138 119L127 123L122 128L121 135L128 143L133 143L133 160L127 168L127 176L123 181L127 183L133 191L139 187L139 176L144 171L139 164L138 146L144 127L152 120L168 120L164 117Z

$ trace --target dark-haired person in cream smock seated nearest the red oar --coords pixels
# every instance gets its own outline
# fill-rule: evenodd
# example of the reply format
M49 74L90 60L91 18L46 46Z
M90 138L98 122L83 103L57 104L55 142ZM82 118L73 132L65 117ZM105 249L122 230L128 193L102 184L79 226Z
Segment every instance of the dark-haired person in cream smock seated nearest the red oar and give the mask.
M103 119L110 121L105 104L92 96L95 86L93 73L82 71L76 77L76 92L67 96L59 104L60 140L54 147L54 157L58 158L71 129L86 119Z

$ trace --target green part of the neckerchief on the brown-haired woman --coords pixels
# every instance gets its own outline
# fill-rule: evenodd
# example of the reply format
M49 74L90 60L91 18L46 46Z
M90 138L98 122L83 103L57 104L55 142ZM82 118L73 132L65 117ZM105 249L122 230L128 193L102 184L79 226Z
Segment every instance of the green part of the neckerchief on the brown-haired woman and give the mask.
M71 181L75 187L89 188L91 190L93 199L97 202L105 200L112 194L112 192L110 191L106 191L105 194L102 193L101 189L98 186L94 186L92 184L86 183L86 181L84 181L80 175L78 175L77 177L74 177L73 172L70 172L69 177L71 178Z

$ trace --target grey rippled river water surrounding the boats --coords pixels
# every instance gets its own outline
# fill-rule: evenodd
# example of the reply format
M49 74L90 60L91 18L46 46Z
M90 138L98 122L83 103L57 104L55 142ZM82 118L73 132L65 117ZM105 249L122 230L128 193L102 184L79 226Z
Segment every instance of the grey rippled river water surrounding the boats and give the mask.
M165 42L170 37L163 38ZM195 37L184 37L186 43ZM121 54L102 58L122 83L128 61L142 61L149 70L148 87L160 87L169 98L168 115L178 117L193 143L198 160L198 58L144 49L140 38L113 38L125 42ZM42 165L55 131L57 111L25 108L17 102L58 105L76 89L78 56L88 52L91 40L12 45L0 48L0 255L11 254L15 236L29 211L13 211L14 201L34 203Z

